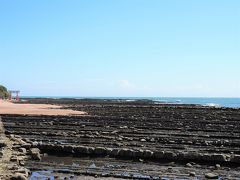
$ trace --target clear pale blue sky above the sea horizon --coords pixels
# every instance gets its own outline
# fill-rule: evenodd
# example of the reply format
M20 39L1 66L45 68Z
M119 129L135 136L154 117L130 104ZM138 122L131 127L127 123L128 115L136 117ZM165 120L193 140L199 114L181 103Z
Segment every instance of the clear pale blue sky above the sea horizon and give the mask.
M22 95L240 97L239 0L1 0Z

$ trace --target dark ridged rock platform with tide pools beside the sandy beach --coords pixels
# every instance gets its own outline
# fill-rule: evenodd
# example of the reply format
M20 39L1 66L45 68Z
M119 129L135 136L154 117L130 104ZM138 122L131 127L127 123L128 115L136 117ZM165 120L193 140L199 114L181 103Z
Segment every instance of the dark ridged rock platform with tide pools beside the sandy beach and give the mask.
M1 115L0 155L15 163L13 170L6 167L9 174L22 172L22 178L30 179L240 179L240 109L149 100L26 102L85 113ZM17 178L9 174L5 177Z

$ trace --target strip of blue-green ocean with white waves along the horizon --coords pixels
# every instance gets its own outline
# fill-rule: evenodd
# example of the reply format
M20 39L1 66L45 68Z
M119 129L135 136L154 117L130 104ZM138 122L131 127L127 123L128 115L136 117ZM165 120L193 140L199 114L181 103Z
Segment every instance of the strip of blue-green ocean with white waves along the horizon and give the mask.
M204 106L233 107L240 108L240 98L193 98L193 97L70 97L70 96L24 96L22 98L74 98L74 99L121 99L134 101L139 99L149 99L156 103L178 103L178 104L200 104Z

